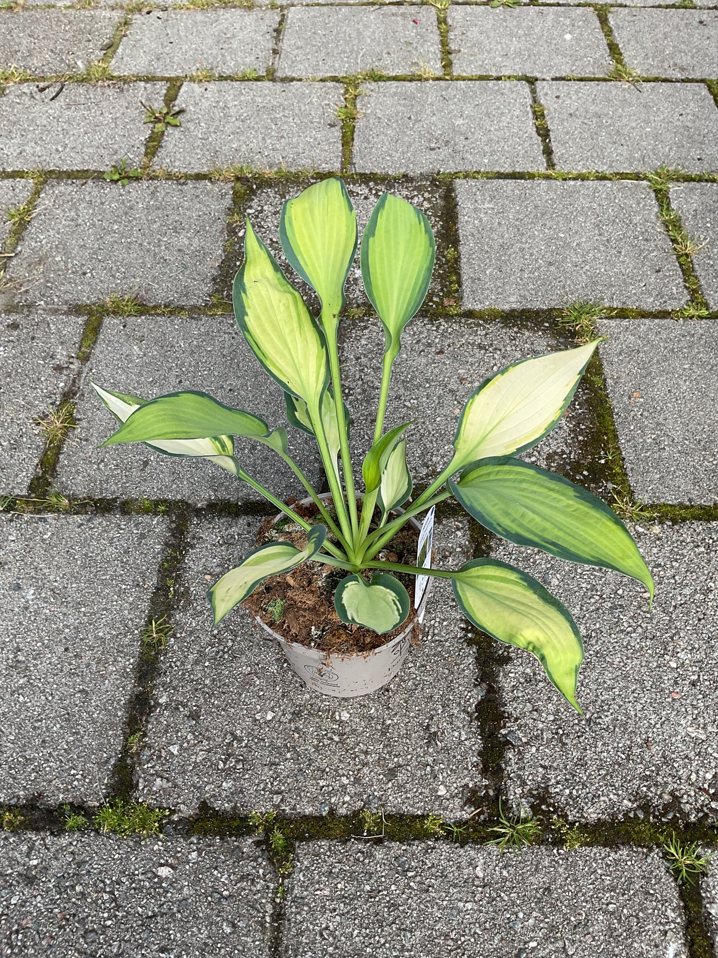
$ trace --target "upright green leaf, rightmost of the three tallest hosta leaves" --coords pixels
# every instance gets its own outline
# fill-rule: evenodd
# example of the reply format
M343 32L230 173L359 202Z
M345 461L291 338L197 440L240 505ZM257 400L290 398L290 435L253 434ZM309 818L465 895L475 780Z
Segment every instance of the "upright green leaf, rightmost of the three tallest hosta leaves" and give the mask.
M382 194L362 237L364 288L384 326L385 353L395 356L401 331L424 302L436 243L429 220L400 196Z

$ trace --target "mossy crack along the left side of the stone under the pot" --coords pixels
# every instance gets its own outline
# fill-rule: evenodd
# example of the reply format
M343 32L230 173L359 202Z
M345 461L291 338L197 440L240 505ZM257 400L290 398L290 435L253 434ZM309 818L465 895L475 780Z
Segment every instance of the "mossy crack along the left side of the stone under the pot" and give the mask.
M180 569L187 551L190 517L188 510L182 507L175 507L173 513L172 528L159 563L157 580L140 639L135 669L135 691L124 719L123 749L110 776L111 791L119 800L128 800L134 791L135 767L152 707L154 682L172 633L172 614L180 599Z

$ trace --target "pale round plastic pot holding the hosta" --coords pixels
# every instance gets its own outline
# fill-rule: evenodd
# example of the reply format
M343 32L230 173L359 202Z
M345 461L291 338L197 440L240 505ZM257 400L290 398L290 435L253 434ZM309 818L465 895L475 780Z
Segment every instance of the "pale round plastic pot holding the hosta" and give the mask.
M329 498L329 496L325 495L322 498ZM304 499L302 505L310 505L311 501L311 499ZM403 513L404 510L396 509L393 512ZM281 518L283 518L283 515L280 513L275 522L278 522ZM421 528L415 519L412 518L409 521L416 530ZM401 634L395 635L386 645L370 652L342 654L341 652L309 649L298 642L288 642L283 635L279 635L273 628L263 623L259 617L257 617L257 621L266 632L269 632L280 643L287 661L303 679L307 688L335 698L366 696L370 692L381 689L387 682L391 682L393 676L398 673L404 664L409 652L412 629L424 617L424 609L429 599L431 585L432 580L429 580L421 604L416 610L417 617Z

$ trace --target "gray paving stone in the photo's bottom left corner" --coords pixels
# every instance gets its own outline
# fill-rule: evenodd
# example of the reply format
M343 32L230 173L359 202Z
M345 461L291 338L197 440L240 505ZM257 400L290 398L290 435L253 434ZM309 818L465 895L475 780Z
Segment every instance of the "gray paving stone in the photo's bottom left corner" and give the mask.
M276 883L251 838L0 833L4 955L270 954Z

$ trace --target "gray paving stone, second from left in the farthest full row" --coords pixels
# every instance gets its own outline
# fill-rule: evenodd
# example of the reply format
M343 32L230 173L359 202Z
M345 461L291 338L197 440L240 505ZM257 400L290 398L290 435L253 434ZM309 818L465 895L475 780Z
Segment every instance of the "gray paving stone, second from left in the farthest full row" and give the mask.
M137 14L112 60L116 74L266 73L279 11L153 10Z

